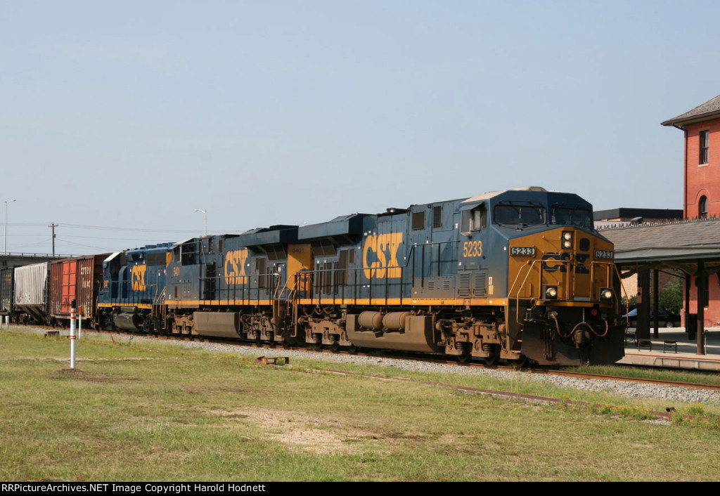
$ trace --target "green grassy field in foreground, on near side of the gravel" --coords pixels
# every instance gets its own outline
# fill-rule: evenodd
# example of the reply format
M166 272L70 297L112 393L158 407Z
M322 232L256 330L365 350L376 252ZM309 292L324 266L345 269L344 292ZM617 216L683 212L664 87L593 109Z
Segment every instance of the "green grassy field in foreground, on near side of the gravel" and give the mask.
M0 330L3 481L716 480L716 423L661 425L630 400L524 379L415 374L86 333ZM323 367L620 407L531 404ZM710 418L714 418L710 415Z

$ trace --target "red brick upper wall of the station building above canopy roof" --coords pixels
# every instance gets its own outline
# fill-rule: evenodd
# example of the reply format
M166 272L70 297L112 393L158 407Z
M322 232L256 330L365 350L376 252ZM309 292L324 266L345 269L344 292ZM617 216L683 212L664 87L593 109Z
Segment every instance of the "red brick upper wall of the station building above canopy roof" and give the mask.
M720 217L720 119L685 126L685 218L696 219L698 202L708 198L708 216ZM710 131L708 165L700 163L700 132Z

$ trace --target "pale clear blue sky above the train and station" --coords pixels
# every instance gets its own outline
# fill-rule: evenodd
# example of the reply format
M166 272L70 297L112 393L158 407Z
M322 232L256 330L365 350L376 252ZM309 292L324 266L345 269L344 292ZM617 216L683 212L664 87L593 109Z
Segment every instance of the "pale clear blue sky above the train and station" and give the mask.
M4 0L8 251L50 251L51 222L58 253L101 253L201 234L194 209L238 233L525 185L682 208L683 134L660 122L720 94L719 17L680 0Z

